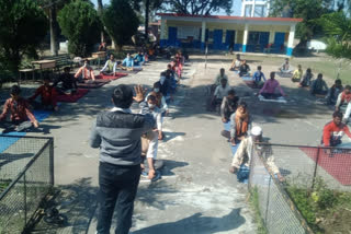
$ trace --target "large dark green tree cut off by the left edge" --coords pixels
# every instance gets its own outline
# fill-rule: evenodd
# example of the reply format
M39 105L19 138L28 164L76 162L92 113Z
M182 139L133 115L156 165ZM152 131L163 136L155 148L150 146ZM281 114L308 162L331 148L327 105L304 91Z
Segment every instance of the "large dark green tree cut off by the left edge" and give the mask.
M36 56L47 33L47 19L32 0L0 0L0 48L2 62L18 72L24 55Z

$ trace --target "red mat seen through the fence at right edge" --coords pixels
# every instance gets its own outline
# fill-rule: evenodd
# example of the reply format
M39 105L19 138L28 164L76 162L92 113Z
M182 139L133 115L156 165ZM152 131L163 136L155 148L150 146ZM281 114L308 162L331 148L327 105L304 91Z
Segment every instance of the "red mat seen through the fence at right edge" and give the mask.
M299 148L312 160L317 161L318 149ZM324 149L319 150L318 165L329 173L342 185L351 185L351 153L326 153Z

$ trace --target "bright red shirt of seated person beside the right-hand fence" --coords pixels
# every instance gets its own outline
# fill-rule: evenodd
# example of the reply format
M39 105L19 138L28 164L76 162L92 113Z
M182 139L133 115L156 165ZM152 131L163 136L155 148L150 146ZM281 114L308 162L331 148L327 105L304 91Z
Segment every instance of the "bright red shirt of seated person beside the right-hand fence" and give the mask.
M322 143L325 147L329 147L330 139L340 140L343 133L347 133L347 136L351 138L351 133L347 125L341 122L339 126L337 126L333 121L330 121L322 130Z

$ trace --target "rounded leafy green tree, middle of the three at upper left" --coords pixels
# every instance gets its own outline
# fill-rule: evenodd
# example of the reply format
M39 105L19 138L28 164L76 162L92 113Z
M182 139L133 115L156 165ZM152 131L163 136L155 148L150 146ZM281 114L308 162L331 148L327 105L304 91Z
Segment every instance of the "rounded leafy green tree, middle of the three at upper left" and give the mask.
M101 22L92 3L81 0L66 4L57 20L63 35L68 38L68 51L87 57L99 42Z

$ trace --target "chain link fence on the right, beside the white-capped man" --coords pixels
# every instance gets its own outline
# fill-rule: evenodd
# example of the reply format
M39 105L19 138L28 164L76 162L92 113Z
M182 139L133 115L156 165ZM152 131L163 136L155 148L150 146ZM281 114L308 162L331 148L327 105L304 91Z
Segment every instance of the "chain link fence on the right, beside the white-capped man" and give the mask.
M249 188L258 196L262 221L271 234L315 231L307 223L315 222L316 218L307 217L306 221L290 197L290 188L305 196L304 201L314 196L320 182L332 192L351 192L351 150L256 144L251 155ZM275 168L284 182L279 179ZM319 198L314 199L317 203ZM303 214L306 213L305 210Z

